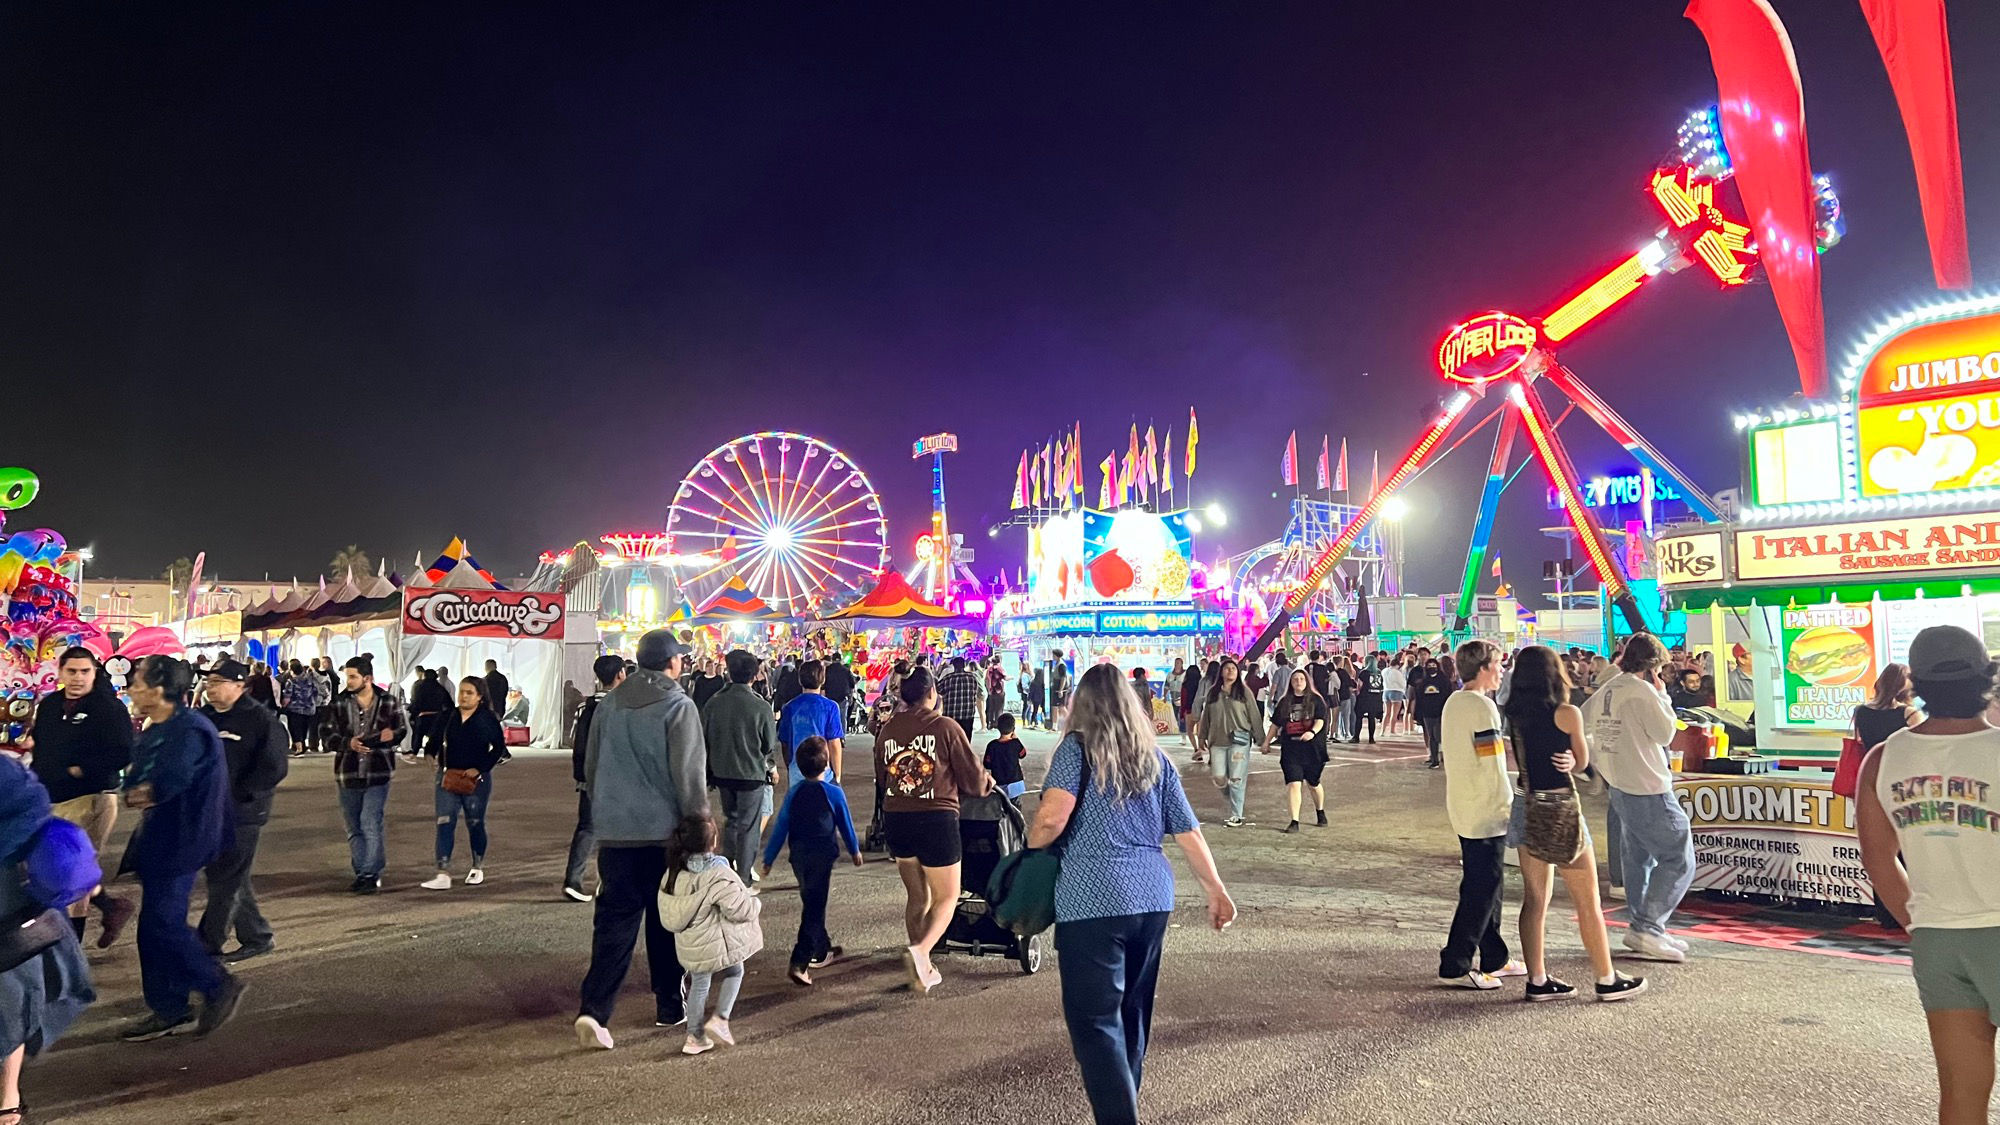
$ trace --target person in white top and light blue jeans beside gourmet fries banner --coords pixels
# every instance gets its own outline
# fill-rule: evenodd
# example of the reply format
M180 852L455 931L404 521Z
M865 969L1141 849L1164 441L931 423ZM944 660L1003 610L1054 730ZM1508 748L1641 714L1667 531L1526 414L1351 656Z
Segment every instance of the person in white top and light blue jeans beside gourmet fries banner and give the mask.
M1674 799L1666 745L1674 741L1674 705L1660 683L1666 647L1652 633L1634 633L1618 655L1618 675L1600 679L1584 705L1592 761L1610 787L1624 875L1624 945L1648 961L1686 961L1688 945L1666 933L1674 909L1694 883L1694 831ZM1616 875L1618 871L1614 871Z

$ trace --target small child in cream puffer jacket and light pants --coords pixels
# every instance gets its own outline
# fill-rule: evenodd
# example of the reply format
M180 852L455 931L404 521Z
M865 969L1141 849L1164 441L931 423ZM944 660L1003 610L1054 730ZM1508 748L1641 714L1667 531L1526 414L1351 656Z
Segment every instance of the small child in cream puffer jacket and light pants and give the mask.
M756 923L760 907L730 861L716 855L716 823L706 813L684 817L666 843L666 881L660 883L660 925L674 935L674 953L688 971L682 1055L700 1055L716 1041L736 1045L730 1011L744 987L744 961L764 949L764 929ZM704 1019L710 985L716 1015Z

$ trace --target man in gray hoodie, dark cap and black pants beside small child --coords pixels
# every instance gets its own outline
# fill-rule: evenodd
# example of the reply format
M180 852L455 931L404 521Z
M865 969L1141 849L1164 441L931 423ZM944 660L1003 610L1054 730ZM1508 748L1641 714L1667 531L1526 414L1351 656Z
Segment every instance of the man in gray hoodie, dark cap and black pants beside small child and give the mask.
M688 647L666 629L638 639L638 671L612 689L590 721L584 789L598 835L598 905L590 923L576 1041L610 1049L612 1005L640 923L658 1027L686 1019L674 935L660 925L666 841L688 813L708 811L708 749L702 715L680 689Z

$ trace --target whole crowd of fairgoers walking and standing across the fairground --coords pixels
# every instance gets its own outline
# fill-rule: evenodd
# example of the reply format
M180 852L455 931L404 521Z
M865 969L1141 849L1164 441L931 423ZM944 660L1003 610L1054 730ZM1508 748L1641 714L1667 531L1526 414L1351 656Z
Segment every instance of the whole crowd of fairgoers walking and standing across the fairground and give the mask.
M462 879L484 881L492 775L508 761L496 703L508 699L504 675L488 665L450 691L444 669L420 669L404 699L376 683L366 655L340 669L338 691L328 673L324 661L272 673L228 657L202 665L148 657L130 673L128 711L94 655L62 655L60 689L34 715L30 767L0 767L0 833L32 835L64 821L102 853L120 807L140 811L142 831L116 867L104 865L106 883L136 877L140 903L92 887L64 903L68 927L56 927L46 949L0 971L0 999L10 1001L0 1045L12 1047L0 1101L20 1105L26 1053L52 1043L94 999L80 953L92 913L100 947L138 923L148 1013L124 1039L208 1035L232 1019L246 993L234 965L276 947L252 869L272 797L300 755L332 755L354 893L380 889L390 781L398 763L426 755L436 875L422 887L446 891L458 879L460 821L470 845ZM1170 731L1226 793L1228 827L1248 823L1252 751L1276 753L1286 833L1300 831L1308 799L1312 823L1328 825L1328 743L1372 741L1378 721L1382 735L1422 731L1428 765L1444 773L1462 865L1438 959L1444 983L1494 991L1520 979L1532 1003L1580 995L1546 951L1560 881L1578 917L1588 995L1626 1001L1646 991L1644 977L1616 967L1604 925L1584 815L1596 797L1608 813L1610 881L1622 885L1630 917L1618 953L1654 963L1688 957L1670 923L1692 881L1694 847L1668 743L1676 711L1712 705L1714 679L1704 659L1668 651L1652 635L1626 639L1608 659L1548 647L1504 653L1486 641L1438 655L1312 651L1296 665L1286 653L1224 655L1176 663L1158 687L1144 671L1128 677L1108 663L1072 679L1052 661L1010 679L994 657L914 655L888 669L872 709L856 691L856 667L838 655L732 651L696 661L668 631L642 637L632 661L600 657L592 675L596 691L576 693L564 717L578 817L562 893L594 903L574 1019L584 1047L614 1047L614 999L642 933L654 1025L680 1027L688 1055L734 1045L744 965L764 949L760 883L780 857L800 897L786 977L812 987L816 971L844 957L826 915L836 865L864 863L840 785L856 723L874 735L870 829L904 887L908 985L918 995L944 985L932 951L960 903L960 803L1024 797L1018 731L1036 705L1046 711L1034 719L1058 721L1062 739L1026 843L1062 847L1054 887L1062 1009L1098 1121L1138 1119L1174 905L1166 839L1186 855L1210 923L1234 919L1162 747ZM1940 831L1960 829L1964 817L1938 813L1938 803L1962 807L2000 785L2000 731L1988 715L1994 675L1976 637L1928 629L1912 643L1910 667L1886 667L1854 717L1856 737L1872 749L1858 783L1862 849L1884 911L1912 927L1946 1121L1982 1119L1992 1087L2000 979L1988 963L2000 941L2000 897L1984 873L1994 833ZM1018 689L1020 715L1008 709L1008 687ZM972 749L980 731L992 733L982 755ZM1522 879L1518 957L1502 929L1510 849ZM206 905L188 925L198 875ZM0 1125L16 1121L18 1109L0 1105Z

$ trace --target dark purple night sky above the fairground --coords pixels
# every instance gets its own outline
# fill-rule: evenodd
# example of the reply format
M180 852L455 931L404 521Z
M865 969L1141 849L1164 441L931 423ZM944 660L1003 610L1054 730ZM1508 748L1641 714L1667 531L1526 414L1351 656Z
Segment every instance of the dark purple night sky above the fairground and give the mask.
M1012 573L1024 532L984 526L1020 448L1082 420L1094 464L1190 404L1196 498L1230 508L1198 550L1248 548L1290 430L1308 474L1322 432L1362 476L1400 452L1444 328L1628 254L1714 100L1678 0L194 8L0 14L0 464L44 482L10 524L102 575L408 569L452 534L518 573L658 526L766 428L860 460L898 565L910 440L956 430L954 524ZM1778 12L1848 214L1840 356L1934 292L1914 176L1860 6ZM1952 38L2000 284L2000 8L1958 2ZM1770 292L1700 270L1564 358L1710 488L1730 408L1798 388ZM1412 591L1456 585L1484 458L1412 490ZM1530 470L1498 536L1524 589L1550 516Z

